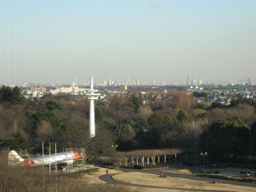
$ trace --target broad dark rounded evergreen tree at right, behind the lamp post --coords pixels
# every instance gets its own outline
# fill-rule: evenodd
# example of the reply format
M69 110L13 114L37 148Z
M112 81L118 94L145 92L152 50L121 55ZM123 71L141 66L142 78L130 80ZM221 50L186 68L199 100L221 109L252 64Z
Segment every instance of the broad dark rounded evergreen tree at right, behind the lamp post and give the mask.
M250 127L241 118L214 122L201 135L201 148L212 158L244 157L250 151Z

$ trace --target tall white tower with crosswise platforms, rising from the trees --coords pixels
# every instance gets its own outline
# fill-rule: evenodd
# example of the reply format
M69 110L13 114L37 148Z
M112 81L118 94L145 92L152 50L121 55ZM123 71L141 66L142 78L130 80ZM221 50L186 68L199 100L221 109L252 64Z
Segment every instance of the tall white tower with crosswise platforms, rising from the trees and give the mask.
M93 138L95 136L94 100L98 99L100 94L95 94L98 90L94 90L94 80L92 77L90 78L90 90L88 92L86 95L90 100L90 138Z

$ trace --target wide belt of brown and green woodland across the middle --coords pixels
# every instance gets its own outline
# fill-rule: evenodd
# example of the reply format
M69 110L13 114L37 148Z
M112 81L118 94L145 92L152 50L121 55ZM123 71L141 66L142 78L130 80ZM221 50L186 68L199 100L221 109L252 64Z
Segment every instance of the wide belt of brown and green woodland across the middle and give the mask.
M182 91L143 95L138 90L109 94L95 102L96 137L89 138L89 101L83 95L26 100L18 87L0 89L0 147L40 153L42 142L58 150L86 148L102 156L117 150L179 148L207 151L211 158L256 154L255 101L238 98L230 106Z

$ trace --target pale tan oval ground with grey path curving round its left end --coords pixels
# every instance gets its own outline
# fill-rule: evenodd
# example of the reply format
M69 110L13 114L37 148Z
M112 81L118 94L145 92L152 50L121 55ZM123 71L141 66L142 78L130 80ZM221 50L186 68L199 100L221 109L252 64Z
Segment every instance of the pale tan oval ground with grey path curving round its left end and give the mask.
M110 184L142 187L143 190L145 189L146 191L153 191L153 189L158 191L256 191L256 183L234 182L211 178L207 178L206 182L202 182L201 177L167 173L168 178L159 178L161 172L159 169L122 170L126 173L104 174L100 176L99 179Z

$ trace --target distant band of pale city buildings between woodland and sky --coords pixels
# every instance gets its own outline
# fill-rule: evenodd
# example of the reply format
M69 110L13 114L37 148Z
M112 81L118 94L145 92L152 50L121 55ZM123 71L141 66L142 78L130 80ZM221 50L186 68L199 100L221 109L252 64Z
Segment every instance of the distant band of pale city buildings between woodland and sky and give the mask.
M240 98L252 98L256 99L256 87L247 89L234 89L228 86L130 86L126 84L114 85L114 86L98 86L101 98L107 98L114 94L129 94L131 90L138 90L142 94L142 102L144 105L153 100L160 101L166 97L170 97L171 93L175 93L178 90L183 92L194 93L194 102L201 104L202 102L219 103L223 106L229 106L232 99ZM26 89L22 88L22 94L26 99L42 98L44 95L61 95L61 94L73 94L84 95L89 90L89 85L76 85L74 82L67 86L30 86ZM178 91L179 92L179 91ZM126 94L125 94L126 93ZM124 96L125 97L125 96ZM152 98L153 97L153 98Z

